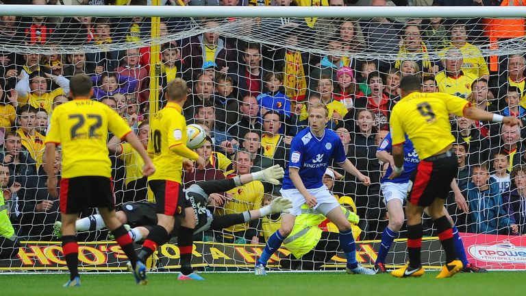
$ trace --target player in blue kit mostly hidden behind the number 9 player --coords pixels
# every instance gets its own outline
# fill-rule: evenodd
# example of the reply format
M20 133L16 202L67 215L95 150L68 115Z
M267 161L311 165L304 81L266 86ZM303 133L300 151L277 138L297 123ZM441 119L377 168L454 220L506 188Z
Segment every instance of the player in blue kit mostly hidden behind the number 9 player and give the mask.
M377 149L376 157L383 162L384 164L392 164L392 156L390 155L392 150L392 140L391 134L387 134L386 138L381 142L380 146ZM408 138L408 135L405 135L405 143L403 144L403 167L405 171L398 177L389 179L391 175L392 168L389 165L386 170L386 175L381 179L380 189L384 194L384 201L387 207L387 212L389 213L389 225L385 228L384 233L381 235L381 244L378 251L378 257L375 262L375 271L376 273L386 273L386 256L389 252L389 249L392 245L392 241L395 240L398 236L398 232L402 227L404 214L403 214L403 201L408 197L408 191L410 187L410 177L413 171L418 167L420 159L418 158L418 153L414 149L413 143ZM453 180L451 182L451 188L455 192L455 195L462 196L460 189L457 186L457 182ZM463 198L463 197L462 197ZM465 201L464 201L465 202ZM453 242L455 243L455 252L457 253L458 258L462 261L464 265L464 272L487 272L486 269L475 266L473 263L469 263L466 257L466 251L464 249L464 244L462 243L462 238L458 235L457 227L453 223L453 219L447 212L444 207L444 214L447 219L451 222L453 228Z

